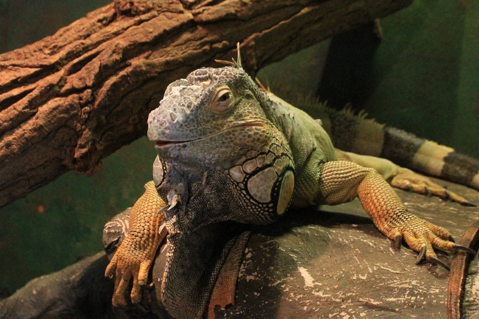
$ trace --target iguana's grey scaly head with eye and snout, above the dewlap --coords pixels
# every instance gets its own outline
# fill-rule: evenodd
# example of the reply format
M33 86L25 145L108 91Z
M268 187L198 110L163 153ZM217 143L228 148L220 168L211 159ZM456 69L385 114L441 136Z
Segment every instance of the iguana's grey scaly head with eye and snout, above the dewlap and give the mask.
M229 169L240 149L267 146L271 123L258 89L238 67L200 68L176 80L148 117L160 157L207 169Z

